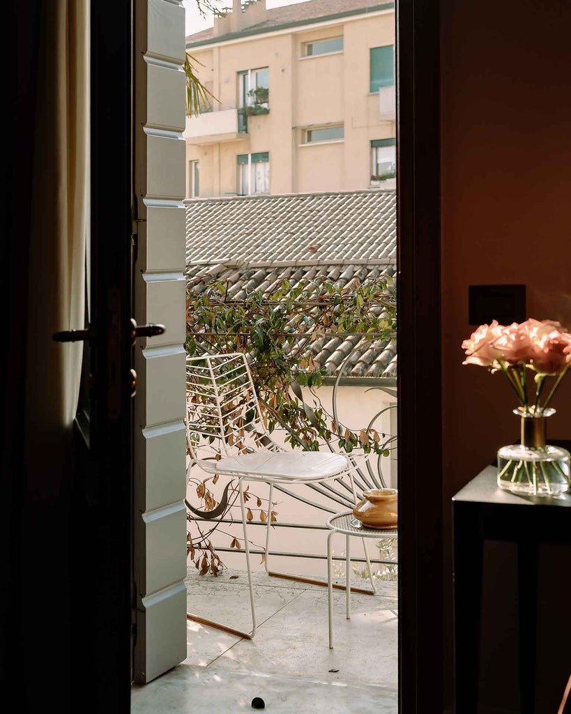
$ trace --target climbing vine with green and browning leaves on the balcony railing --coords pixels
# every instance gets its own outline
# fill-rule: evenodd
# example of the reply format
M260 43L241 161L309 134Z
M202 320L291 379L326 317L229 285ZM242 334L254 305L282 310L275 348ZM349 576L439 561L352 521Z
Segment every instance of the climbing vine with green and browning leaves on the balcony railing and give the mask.
M359 335L387 344L396 338L396 294L392 278L350 281L342 285L329 278L284 280L273 291L246 289L239 299L224 281L205 285L188 281L186 298L186 351L188 356L204 353L244 352L251 356L251 372L261 400L268 431L279 428L292 448L318 450L328 446L348 454L360 452L388 456L393 438L373 426L352 430L340 420L335 408L322 403L317 388L327 376L325 365L313 356L312 346L323 338ZM310 395L312 403L304 396ZM231 514L238 494L229 484L216 496L216 476L190 476L196 504L188 507L188 555L199 573L216 575L224 564L212 545L214 531L231 538L231 548L241 548L240 540L223 531L231 524L223 516ZM230 487L230 488L229 488ZM247 493L251 499L248 520L258 513L261 522L277 521L275 503ZM254 506L255 504L255 506ZM196 518L215 513L221 519ZM230 520L226 518L226 521Z

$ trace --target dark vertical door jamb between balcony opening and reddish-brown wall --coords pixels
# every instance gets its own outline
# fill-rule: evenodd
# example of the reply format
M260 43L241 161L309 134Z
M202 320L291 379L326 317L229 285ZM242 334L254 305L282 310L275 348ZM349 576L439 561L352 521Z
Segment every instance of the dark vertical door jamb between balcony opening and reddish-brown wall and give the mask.
M399 712L443 711L438 1L398 0Z

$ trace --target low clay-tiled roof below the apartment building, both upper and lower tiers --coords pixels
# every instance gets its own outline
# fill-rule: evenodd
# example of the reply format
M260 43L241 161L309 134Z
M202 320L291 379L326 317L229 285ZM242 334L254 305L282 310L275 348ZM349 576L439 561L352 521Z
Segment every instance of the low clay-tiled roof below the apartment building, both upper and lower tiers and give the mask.
M294 286L323 276L346 286L395 273L394 190L186 202L186 279L197 295L214 281L226 281L228 296L239 300L254 289L269 294L284 279ZM396 376L390 341L328 336L310 352L330 376L348 354L343 376Z

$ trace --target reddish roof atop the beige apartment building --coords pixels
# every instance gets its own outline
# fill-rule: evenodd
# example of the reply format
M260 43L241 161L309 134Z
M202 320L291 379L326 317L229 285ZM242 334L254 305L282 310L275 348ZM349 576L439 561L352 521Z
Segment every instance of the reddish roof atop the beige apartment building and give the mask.
M280 29L283 26L310 24L324 19L333 19L335 16L343 18L347 15L363 14L374 12L383 8L394 6L393 1L388 0L308 0L294 5L286 5L276 8L268 8L267 19L256 25L247 27L240 32L233 32L214 37L213 27L209 27L201 32L188 35L186 37L187 46L196 46L208 41L223 41L232 39L234 36L244 36L261 34Z

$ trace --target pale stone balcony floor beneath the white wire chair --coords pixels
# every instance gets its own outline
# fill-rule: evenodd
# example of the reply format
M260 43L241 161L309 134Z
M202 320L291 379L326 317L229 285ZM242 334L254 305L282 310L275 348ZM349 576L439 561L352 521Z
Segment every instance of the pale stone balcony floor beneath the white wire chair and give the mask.
M134 687L132 714L186 714L252 710L263 698L268 712L396 714L398 711L397 583L378 593L333 593L334 647L328 646L327 588L255 573L258 628L253 640L187 622L187 658L143 687ZM367 582L353 580L366 587ZM247 575L218 578L188 570L188 611L249 627Z

